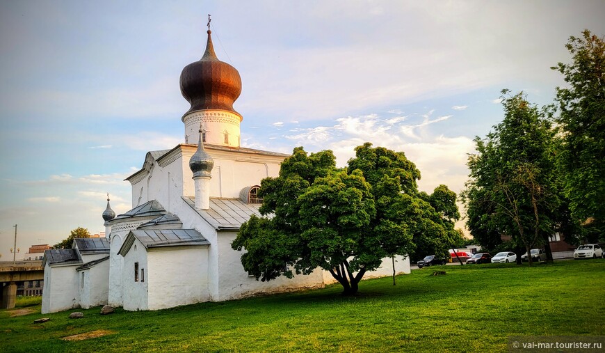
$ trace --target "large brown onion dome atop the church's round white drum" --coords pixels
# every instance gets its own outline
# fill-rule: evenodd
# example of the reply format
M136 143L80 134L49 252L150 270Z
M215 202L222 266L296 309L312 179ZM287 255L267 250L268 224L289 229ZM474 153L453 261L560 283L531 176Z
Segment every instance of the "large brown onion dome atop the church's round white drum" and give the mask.
M184 114L202 109L222 109L232 111L233 102L241 93L239 72L228 63L218 60L208 30L206 52L200 61L195 61L181 72L181 94L191 103L191 108Z

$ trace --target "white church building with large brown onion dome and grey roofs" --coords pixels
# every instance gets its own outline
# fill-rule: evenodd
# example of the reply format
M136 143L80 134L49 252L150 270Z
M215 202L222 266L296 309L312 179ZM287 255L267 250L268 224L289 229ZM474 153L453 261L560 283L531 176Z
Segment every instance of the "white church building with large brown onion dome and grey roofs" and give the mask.
M42 313L103 304L157 310L334 283L321 269L257 281L231 248L241 224L260 216L261 180L276 177L289 155L240 146L243 117L233 103L241 78L218 60L207 33L202 58L181 72L181 93L191 103L181 118L184 143L147 152L143 168L126 179L132 210L115 217L108 198L106 238L76 239L72 249L45 252ZM410 273L408 258L396 258L395 267ZM364 277L392 273L388 258Z

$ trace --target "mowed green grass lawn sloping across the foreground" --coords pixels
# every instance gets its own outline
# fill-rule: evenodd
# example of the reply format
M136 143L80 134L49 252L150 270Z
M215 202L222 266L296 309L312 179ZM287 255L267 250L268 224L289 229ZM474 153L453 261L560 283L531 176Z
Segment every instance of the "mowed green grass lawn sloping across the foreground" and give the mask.
M443 270L445 275L431 276ZM436 266L322 290L181 306L10 317L2 352L502 352L508 336L605 335L605 260ZM49 322L33 320L50 317ZM62 338L106 330L106 336Z

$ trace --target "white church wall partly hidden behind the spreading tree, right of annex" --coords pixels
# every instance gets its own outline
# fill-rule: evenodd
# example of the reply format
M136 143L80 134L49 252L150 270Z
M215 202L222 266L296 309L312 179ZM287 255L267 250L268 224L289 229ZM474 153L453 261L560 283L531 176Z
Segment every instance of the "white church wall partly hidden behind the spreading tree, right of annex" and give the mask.
M248 276L241 265L241 251L231 248L236 232L220 232L218 234L218 276L219 295L216 301L239 299L263 293L290 292L293 290L323 288L323 274L316 269L308 276L294 276L288 279L281 276L273 281L257 281Z

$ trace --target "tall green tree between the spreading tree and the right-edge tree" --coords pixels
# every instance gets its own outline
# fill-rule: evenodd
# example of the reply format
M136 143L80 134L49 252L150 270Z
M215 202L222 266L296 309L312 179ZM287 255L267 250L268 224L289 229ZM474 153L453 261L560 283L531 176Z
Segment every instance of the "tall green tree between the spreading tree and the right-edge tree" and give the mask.
M502 93L504 119L485 139L475 138L477 153L467 163L467 226L488 247L509 235L528 252L538 244L548 250L560 207L554 130L547 111L529 104L523 93Z

